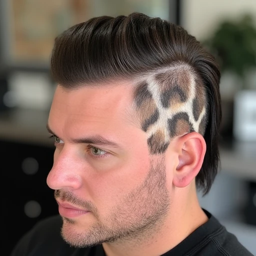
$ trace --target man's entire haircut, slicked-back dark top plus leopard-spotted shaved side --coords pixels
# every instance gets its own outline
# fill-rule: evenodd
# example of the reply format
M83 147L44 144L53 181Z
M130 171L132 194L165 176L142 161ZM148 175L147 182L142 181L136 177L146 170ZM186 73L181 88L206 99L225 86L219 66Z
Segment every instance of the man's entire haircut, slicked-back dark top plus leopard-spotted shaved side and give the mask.
M187 132L203 135L196 185L206 194L219 164L220 72L215 58L182 27L142 13L100 16L55 39L51 73L64 89L136 81L134 108L151 154Z

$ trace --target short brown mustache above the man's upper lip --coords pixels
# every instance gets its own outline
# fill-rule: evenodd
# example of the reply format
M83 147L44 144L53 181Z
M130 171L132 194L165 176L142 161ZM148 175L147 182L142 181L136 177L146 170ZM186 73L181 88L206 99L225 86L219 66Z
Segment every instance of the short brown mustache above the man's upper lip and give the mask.
M97 209L91 201L85 201L81 198L78 198L71 191L61 191L60 189L54 190L54 198L69 202L74 206L86 209L93 213L97 213Z

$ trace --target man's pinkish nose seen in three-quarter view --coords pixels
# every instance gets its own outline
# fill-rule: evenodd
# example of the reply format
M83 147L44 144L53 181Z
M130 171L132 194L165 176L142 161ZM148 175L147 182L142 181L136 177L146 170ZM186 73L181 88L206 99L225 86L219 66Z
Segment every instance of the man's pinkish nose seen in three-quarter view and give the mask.
M84 167L84 166L83 166ZM54 152L53 166L47 176L47 185L56 190L68 188L78 189L82 186L82 163L74 150L63 148Z

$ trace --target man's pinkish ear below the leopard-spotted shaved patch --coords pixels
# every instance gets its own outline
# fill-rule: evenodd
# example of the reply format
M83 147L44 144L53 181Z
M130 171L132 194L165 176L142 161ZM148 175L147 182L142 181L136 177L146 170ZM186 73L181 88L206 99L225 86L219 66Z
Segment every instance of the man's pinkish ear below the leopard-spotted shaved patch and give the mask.
M190 132L176 141L178 164L173 173L173 185L187 186L201 169L206 144L203 136L197 132Z

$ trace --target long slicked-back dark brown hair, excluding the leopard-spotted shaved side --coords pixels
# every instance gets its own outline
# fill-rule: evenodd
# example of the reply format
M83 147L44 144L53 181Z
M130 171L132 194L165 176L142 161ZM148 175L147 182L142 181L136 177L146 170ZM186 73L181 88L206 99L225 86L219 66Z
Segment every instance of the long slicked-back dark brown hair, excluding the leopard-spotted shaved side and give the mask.
M117 17L100 16L74 25L60 34L55 39L51 56L53 78L65 89L151 74L157 75L159 83L163 79L161 77L165 76L168 81L168 68L179 66L187 67L185 70L188 70L196 88L204 95L206 112L203 128L199 132L204 136L207 149L201 170L196 176L196 184L206 194L219 163L220 73L214 57L193 36L176 24L142 13ZM163 75L159 76L160 73ZM178 77L172 80L180 87ZM145 89L143 82L139 86ZM171 91L173 90L168 89L168 93ZM139 92L135 92L135 95L138 94ZM183 95L184 89L179 92L181 101ZM144 94L140 96L145 97ZM195 106L196 102L193 103ZM157 112L154 117L155 114ZM188 116L183 114L183 118L187 119ZM169 127L173 125L169 123ZM189 131L193 130L191 126L188 128ZM160 134L159 131L157 134ZM150 142L152 141L157 142L157 139L151 138ZM166 146L159 146L163 152ZM158 149L154 146L153 151L160 152Z

